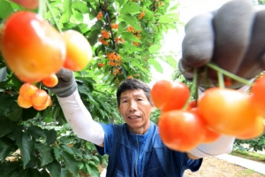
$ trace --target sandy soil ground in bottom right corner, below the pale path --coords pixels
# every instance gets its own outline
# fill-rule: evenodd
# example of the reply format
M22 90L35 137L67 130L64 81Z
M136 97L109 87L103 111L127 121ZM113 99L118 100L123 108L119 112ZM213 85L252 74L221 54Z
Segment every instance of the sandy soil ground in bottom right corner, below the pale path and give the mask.
M184 177L265 177L264 174L215 157L204 158L199 171L186 170Z

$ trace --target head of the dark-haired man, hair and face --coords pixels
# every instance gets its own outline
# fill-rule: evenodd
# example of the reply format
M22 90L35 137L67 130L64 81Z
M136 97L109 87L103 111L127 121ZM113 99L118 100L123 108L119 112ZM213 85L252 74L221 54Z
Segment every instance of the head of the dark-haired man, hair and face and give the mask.
M142 81L125 80L117 89L117 109L134 134L143 135L150 126L153 111L150 88Z

